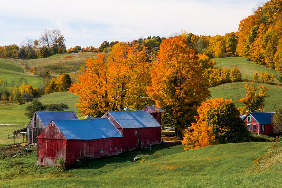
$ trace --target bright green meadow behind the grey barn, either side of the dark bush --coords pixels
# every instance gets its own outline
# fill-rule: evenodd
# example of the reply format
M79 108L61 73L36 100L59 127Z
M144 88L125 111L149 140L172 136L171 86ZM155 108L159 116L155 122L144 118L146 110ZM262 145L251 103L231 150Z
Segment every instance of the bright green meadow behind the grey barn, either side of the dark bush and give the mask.
M38 98L43 104L63 102L68 105L68 110L73 110L77 116L80 116L80 113L77 113L78 108L74 106L75 99L77 99L77 96L68 91L50 93ZM0 124L28 124L30 119L24 115L27 105L28 103L23 105L0 105Z

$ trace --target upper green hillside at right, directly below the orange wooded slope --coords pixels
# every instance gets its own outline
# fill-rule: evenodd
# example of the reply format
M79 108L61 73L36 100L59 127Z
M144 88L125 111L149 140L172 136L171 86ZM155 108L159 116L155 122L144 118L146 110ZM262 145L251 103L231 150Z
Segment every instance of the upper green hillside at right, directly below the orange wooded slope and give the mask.
M226 57L226 58L217 58L215 59L215 67L222 67L227 69L233 69L235 65L238 66L238 69L241 71L242 78L245 78L245 75L248 74L248 79L253 77L253 73L256 71L260 74L261 72L269 72L274 74L275 78L279 75L279 72L274 69L266 68L265 66L258 65L252 61L248 61L247 57Z

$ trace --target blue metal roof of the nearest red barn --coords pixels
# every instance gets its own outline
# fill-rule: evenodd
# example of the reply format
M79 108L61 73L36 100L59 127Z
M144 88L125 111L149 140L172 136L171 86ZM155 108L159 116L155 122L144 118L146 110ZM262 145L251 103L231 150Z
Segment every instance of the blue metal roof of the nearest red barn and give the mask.
M108 118L53 120L53 122L69 140L123 137Z

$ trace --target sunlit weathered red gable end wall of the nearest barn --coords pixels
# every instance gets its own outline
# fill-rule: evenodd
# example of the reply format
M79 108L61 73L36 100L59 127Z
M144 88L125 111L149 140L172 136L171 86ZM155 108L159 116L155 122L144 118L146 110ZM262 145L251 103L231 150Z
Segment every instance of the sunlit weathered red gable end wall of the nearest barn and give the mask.
M60 130L50 123L37 137L37 164L55 166L57 158L65 159L66 139ZM43 161L41 161L43 159Z

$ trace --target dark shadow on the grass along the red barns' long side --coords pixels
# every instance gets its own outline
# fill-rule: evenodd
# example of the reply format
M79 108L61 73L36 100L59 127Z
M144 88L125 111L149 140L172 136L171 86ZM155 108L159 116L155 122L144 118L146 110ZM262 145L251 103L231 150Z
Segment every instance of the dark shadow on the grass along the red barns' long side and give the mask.
M99 169L108 164L117 164L133 161L133 158L138 155L146 155L149 159L154 159L159 157L159 154L154 154L162 149L170 149L170 147L180 145L181 142L164 142L158 145L152 145L151 150L148 148L137 148L131 151L126 151L118 155L106 155L101 158L83 158L76 161L76 163L70 167L67 167L67 170L71 169Z

